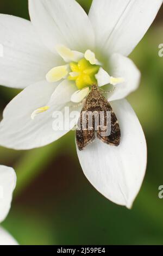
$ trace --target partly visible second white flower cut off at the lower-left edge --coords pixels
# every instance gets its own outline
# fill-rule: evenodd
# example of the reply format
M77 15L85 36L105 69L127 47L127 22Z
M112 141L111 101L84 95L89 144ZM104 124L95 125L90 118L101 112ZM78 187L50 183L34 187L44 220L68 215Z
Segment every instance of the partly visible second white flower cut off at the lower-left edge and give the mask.
M16 174L14 169L0 165L0 223L8 215L15 186ZM15 239L2 227L0 227L0 245L17 245Z

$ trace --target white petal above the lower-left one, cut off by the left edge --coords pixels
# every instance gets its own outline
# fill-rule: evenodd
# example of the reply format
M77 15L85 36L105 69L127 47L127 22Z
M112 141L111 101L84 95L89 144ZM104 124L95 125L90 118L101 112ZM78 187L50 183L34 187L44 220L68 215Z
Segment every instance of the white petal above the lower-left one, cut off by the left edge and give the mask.
M25 88L45 79L60 64L59 56L43 46L30 21L0 14L0 84Z

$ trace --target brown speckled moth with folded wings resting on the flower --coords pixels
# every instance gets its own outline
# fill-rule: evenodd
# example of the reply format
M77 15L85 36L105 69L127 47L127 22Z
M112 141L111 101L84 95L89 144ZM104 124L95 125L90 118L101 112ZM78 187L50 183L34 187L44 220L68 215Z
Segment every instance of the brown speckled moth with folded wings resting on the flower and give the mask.
M92 123L90 124L88 115L85 113L93 113ZM96 125L95 118L99 113L102 113L103 125ZM110 113L110 121L108 121L107 114ZM96 115L97 114L97 115ZM110 133L105 135L106 127L110 122ZM101 124L101 123L99 123ZM86 98L83 109L80 113L80 118L76 130L76 141L79 150L83 150L86 145L90 144L95 139L95 133L97 138L102 142L118 146L121 139L120 126L118 124L115 113L106 98L99 91L96 84L91 86L91 92Z

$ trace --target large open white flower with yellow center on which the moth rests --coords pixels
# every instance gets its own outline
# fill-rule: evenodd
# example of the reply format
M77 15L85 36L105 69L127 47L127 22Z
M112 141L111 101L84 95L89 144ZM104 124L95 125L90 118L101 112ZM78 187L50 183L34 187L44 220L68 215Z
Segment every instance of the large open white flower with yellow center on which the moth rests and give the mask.
M77 102L96 79L98 86L112 84L115 90L108 100L120 123L120 146L95 141L77 152L91 184L112 202L130 208L145 175L147 150L139 120L124 99L140 81L139 70L127 56L161 4L93 0L87 16L74 0L29 0L32 22L0 15L0 83L26 87L4 110L0 144L31 149L57 140L67 131L52 129L52 113L64 106L80 111Z

